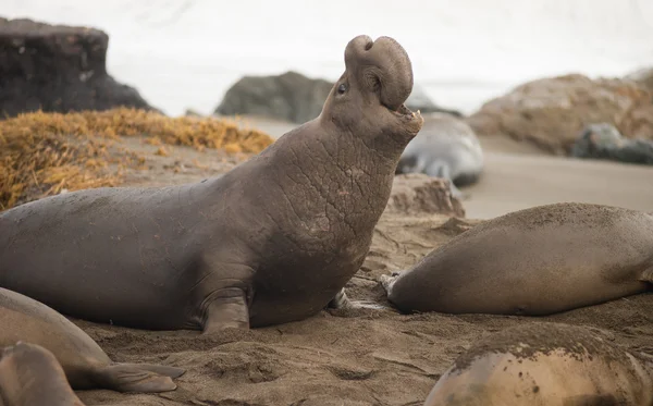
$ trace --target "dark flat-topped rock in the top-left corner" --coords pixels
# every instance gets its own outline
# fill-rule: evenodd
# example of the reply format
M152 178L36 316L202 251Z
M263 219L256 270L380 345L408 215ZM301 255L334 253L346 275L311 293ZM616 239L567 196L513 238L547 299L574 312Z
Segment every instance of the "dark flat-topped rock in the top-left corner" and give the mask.
M0 115L151 108L107 73L109 36L87 27L0 17Z

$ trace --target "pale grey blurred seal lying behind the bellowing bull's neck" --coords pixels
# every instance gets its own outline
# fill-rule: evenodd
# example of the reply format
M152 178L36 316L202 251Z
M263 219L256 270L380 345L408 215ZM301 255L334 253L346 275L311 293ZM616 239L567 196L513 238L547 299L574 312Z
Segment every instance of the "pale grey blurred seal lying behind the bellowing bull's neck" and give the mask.
M483 172L483 150L473 130L446 113L424 114L424 124L408 144L396 173L426 173L449 181L452 194L463 197L458 186L477 183Z

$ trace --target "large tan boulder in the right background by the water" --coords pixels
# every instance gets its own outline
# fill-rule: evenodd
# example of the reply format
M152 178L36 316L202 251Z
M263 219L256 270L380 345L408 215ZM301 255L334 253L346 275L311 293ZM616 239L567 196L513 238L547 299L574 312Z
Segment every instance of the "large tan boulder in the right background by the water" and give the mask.
M466 121L478 135L505 134L567 155L578 133L596 122L629 138L653 139L653 94L629 79L570 74L520 85Z

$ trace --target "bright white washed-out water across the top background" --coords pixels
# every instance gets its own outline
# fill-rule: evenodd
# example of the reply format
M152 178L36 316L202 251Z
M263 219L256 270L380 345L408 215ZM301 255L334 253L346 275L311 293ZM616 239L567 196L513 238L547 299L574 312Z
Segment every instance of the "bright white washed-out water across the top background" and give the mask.
M108 70L172 115L243 75L336 79L359 34L397 39L436 102L472 112L529 79L653 65L653 0L0 0L0 15L110 35Z

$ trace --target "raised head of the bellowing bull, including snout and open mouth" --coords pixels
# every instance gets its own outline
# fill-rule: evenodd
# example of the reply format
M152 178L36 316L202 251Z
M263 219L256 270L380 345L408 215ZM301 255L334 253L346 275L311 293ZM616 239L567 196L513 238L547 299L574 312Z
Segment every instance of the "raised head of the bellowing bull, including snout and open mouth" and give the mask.
M380 134L408 143L423 119L404 104L412 91L412 65L393 38L358 36L345 49L345 73L331 89L321 120L354 134ZM405 145L403 145L405 147Z

